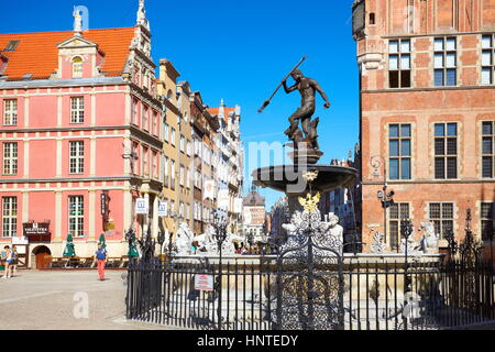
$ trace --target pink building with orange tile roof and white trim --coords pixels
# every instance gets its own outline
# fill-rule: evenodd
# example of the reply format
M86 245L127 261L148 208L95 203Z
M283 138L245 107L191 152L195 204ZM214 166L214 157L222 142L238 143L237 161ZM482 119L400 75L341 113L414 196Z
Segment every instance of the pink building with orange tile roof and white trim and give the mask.
M28 267L62 256L68 234L78 256L101 233L121 256L127 230L158 231L163 110L143 13L127 29L0 35L0 245Z

